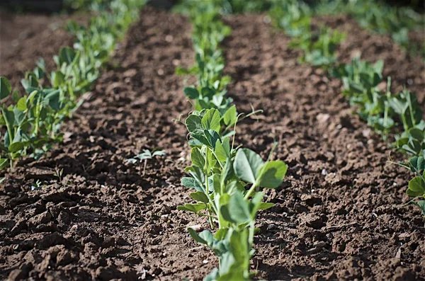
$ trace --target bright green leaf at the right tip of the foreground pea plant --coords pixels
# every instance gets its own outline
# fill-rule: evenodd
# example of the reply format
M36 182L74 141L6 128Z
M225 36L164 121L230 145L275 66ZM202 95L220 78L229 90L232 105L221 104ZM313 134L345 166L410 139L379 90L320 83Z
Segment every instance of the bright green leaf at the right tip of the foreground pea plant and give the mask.
M277 188L282 183L288 170L288 165L283 161L271 161L261 168L259 186L262 188Z

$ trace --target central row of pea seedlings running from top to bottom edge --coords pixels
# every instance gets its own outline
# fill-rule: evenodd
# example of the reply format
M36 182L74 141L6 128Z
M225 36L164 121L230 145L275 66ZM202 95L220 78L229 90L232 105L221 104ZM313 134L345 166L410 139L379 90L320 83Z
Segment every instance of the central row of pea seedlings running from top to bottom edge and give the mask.
M219 7L212 1L193 6L190 15L196 64L177 72L198 76L196 86L184 88L194 110L186 119L191 166L185 168L188 177L181 180L193 189L191 197L196 203L178 208L210 222L211 230L198 233L188 228L193 239L219 259L218 268L204 280L250 280L256 215L273 206L263 202L260 188L278 188L288 167L283 161L272 161L271 156L263 161L256 152L235 147L242 114L238 115L232 98L226 96L229 77L222 76L225 62L219 47L230 29L220 21Z

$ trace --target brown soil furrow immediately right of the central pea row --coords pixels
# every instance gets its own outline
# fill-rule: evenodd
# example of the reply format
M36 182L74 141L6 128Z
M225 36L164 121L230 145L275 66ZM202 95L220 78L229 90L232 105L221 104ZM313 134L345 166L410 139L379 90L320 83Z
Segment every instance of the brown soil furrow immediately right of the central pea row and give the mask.
M276 158L290 167L283 187L268 192L276 207L260 215L254 267L261 277L425 277L424 222L418 210L403 206L409 172L387 165L391 149L353 114L340 82L298 64L290 39L263 23L263 16L233 16L227 23L232 27L225 42L225 71L233 80L229 93L239 110L247 113L251 105L264 110L259 122L241 122L238 138L256 151L269 151L276 140ZM365 33L352 34L348 46L372 42L361 37ZM377 57L390 52L365 43L359 47L370 48ZM407 74L397 76L391 67L418 67L395 49L390 48L395 62L385 73L399 88ZM416 90L423 96L423 74L409 75L419 81Z

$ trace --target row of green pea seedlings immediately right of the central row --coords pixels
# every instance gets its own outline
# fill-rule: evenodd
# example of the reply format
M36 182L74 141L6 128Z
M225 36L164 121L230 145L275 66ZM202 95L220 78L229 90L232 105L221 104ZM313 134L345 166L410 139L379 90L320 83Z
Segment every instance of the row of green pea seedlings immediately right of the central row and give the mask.
M335 53L344 34L325 27L313 30L311 16L310 8L295 0L280 1L271 10L275 25L293 37L293 47L303 51L302 62L327 69L329 75L341 79L344 96L375 132L387 140L402 125L403 130L392 145L409 156L408 161L397 164L415 174L409 181L407 194L414 197L411 202L425 215L425 121L415 94L406 89L391 93L390 77L386 91L380 91L378 85L384 67L381 60L370 64L356 57L350 64L337 63Z

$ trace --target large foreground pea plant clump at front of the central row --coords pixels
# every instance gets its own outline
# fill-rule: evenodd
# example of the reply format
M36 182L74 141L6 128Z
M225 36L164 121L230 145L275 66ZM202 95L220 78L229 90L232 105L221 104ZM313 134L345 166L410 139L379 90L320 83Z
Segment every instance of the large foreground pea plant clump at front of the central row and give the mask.
M218 110L207 110L201 119L192 116L196 115L186 120L191 133L192 165L185 169L191 177L183 178L182 184L193 188L191 197L197 202L178 208L208 217L212 229L217 225L214 235L210 231L198 235L189 229L193 239L208 245L220 259L220 269L208 277L249 280L256 212L273 207L272 203L262 202L259 188L277 188L288 167L282 161L264 162L250 149L234 149L229 137L220 134ZM238 241L241 237L245 239ZM237 253L235 248L239 249Z

